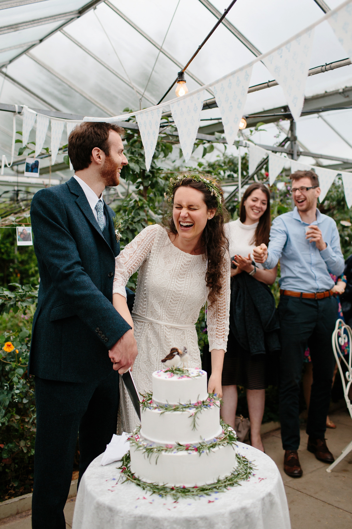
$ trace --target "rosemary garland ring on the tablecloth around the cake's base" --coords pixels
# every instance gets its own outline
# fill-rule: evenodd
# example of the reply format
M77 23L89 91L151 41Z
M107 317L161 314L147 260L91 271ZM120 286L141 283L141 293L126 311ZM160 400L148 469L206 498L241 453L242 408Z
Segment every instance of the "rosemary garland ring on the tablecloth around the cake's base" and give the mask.
M127 452L121 459L121 466L118 469L121 472L123 479L122 483L131 481L138 485L150 494L157 494L160 498L171 496L173 499L189 498L199 496L210 496L213 492L225 492L231 487L241 485L241 481L248 480L255 469L251 461L246 459L244 455L236 454L237 467L233 469L230 476L223 479L218 479L215 483L210 485L201 485L199 487L168 487L167 485L159 485L157 483L146 483L137 478L130 468L130 453Z

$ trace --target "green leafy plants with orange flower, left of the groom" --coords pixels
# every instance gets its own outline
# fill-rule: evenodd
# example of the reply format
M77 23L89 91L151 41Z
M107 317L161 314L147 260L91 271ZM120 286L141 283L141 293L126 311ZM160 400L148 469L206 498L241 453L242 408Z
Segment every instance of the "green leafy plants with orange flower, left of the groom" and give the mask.
M27 366L37 288L12 286L16 290L0 289L1 500L27 494L33 484L36 413Z

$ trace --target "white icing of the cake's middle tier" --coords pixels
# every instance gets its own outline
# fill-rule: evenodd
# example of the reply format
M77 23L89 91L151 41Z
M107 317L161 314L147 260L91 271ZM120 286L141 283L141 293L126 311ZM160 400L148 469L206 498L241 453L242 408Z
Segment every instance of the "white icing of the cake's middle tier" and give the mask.
M196 414L196 429L193 430L195 408L183 412L163 412L145 408L141 413L140 434L158 444L186 444L210 441L222 432L220 407L214 404L204 407Z

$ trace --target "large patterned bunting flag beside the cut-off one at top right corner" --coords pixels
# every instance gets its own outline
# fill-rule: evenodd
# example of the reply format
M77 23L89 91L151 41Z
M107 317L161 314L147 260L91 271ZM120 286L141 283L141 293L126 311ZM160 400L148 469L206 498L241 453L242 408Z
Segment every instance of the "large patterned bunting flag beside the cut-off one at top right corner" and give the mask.
M295 121L300 117L305 101L313 36L314 31L310 30L263 59L264 65L281 86Z

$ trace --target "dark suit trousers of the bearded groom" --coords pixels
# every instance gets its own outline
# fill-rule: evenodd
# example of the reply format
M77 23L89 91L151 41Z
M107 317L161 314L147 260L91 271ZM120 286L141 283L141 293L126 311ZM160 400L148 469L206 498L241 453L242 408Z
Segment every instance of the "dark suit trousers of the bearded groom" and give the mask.
M63 509L69 494L79 434L79 480L116 433L119 373L98 382L60 382L35 377L36 437L33 529L65 529Z

